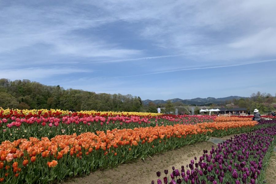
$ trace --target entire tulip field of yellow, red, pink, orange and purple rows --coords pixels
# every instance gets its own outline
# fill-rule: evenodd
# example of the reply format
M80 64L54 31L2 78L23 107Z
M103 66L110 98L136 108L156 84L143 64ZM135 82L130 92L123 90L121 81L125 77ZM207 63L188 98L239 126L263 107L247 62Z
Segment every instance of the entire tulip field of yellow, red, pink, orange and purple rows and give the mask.
M133 159L247 133L225 141L156 183L261 183L276 120L136 112L0 109L0 182L50 183ZM169 181L171 178L171 181ZM254 181L253 181L254 180ZM237 182L239 181L239 182ZM153 181L154 183L154 181Z

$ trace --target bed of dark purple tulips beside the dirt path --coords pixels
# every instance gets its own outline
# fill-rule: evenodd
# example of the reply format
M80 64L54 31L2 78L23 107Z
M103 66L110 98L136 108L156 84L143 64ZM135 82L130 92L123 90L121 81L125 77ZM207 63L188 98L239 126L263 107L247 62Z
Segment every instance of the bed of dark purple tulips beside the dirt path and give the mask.
M216 149L212 148L210 154L203 150L198 163L195 157L186 165L186 171L184 166L181 170L173 167L168 177L168 170L165 170L163 182L161 172L157 172L157 183L167 184L169 178L170 184L265 183L264 171L276 144L275 138L276 126L235 136L218 144ZM151 183L154 184L154 181Z

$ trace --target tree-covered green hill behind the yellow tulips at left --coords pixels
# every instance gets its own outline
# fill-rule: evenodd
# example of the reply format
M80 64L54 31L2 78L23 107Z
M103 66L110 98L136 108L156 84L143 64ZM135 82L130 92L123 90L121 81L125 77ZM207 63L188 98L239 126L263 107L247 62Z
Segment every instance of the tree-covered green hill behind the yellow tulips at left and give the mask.
M96 94L26 79L0 79L0 107L3 108L139 111L141 106L141 98L130 94Z

